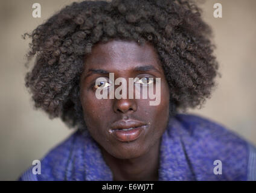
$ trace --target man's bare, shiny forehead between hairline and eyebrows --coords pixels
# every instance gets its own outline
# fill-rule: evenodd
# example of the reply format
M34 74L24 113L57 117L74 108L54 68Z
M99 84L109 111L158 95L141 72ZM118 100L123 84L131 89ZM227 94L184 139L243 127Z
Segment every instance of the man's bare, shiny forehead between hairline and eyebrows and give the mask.
M125 71L140 65L152 65L160 70L158 54L149 43L138 45L136 42L124 40L98 43L85 58L85 69Z

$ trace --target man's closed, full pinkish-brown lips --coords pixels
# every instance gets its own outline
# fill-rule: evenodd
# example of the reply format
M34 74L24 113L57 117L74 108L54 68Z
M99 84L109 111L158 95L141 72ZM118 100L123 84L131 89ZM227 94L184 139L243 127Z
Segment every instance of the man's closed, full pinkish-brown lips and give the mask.
M131 142L139 138L147 124L136 120L120 120L111 125L110 134L113 134L118 141Z

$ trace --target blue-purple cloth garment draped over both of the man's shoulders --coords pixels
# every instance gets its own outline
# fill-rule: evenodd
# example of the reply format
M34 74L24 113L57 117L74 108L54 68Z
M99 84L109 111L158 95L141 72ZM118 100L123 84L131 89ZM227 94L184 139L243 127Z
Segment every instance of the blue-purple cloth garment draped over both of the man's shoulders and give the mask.
M160 148L159 180L256 180L256 148L222 125L196 115L170 118ZM214 174L214 160L222 174ZM19 180L113 180L98 144L76 131ZM219 170L220 171L220 170Z

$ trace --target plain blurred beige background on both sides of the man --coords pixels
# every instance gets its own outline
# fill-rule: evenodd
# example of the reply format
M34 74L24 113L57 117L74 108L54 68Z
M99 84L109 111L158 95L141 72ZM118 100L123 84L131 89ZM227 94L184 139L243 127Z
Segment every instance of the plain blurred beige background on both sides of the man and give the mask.
M42 7L41 18L31 16L34 2ZM50 120L33 109L24 86L29 40L21 38L70 2L0 1L0 180L16 180L33 160L72 132L59 119ZM223 8L219 19L213 17L216 2ZM191 112L220 122L256 144L256 1L211 0L201 7L203 18L213 27L222 78L203 109Z

